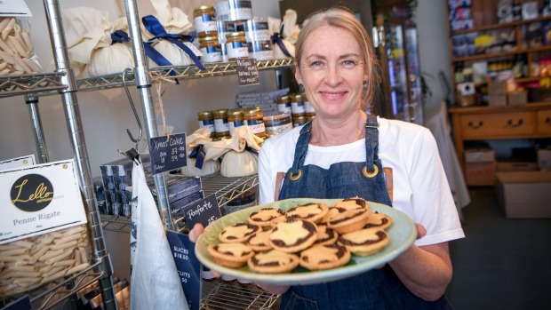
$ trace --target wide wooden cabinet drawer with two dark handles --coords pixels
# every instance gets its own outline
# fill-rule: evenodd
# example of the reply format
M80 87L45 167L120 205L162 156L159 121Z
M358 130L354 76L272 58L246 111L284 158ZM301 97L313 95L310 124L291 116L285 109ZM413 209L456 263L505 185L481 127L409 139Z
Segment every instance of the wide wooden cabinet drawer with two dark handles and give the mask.
M533 112L493 113L461 116L464 139L522 137L535 131Z

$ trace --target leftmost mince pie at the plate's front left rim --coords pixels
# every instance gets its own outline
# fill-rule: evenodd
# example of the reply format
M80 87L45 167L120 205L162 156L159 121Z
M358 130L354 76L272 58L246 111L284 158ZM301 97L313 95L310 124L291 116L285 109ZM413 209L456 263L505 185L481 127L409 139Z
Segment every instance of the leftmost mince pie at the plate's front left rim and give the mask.
M230 268L244 266L254 255L251 247L244 243L211 244L207 250L217 264Z

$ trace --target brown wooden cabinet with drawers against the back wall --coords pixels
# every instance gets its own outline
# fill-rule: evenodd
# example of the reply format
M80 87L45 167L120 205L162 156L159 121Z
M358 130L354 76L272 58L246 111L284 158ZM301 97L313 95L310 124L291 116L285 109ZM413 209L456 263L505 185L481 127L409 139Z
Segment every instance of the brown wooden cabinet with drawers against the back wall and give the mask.
M551 138L551 102L519 107L451 107L450 113L464 171L467 140Z

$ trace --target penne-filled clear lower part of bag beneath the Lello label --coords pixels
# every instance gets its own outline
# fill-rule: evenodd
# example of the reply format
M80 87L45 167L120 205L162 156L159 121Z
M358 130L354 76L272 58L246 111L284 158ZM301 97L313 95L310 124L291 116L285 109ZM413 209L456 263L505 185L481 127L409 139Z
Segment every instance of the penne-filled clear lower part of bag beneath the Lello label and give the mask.
M90 266L85 224L0 245L0 298L33 290Z

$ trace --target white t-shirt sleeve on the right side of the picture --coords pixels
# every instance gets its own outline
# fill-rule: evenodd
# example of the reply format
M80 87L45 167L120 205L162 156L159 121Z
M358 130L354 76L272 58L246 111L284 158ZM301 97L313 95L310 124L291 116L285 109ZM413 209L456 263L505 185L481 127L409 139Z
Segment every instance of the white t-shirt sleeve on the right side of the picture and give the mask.
M464 237L435 138L428 130L419 131L411 147L408 170L413 220L427 229L427 234L415 244L435 244Z

